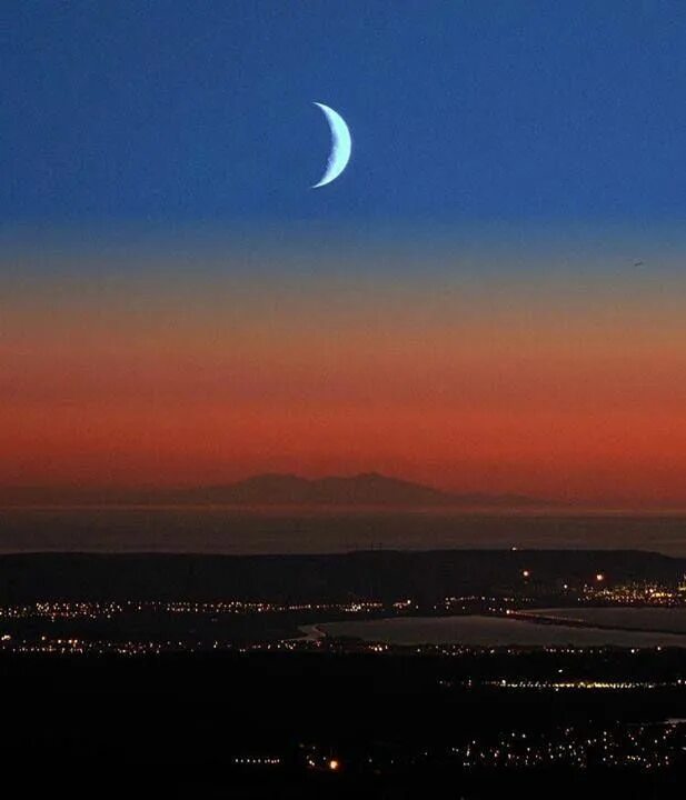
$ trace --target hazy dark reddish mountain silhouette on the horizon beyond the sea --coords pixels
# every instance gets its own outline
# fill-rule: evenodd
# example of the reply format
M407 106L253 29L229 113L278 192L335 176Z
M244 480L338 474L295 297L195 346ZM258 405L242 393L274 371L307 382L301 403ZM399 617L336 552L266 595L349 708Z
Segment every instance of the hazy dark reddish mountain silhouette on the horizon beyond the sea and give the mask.
M314 480L295 474L259 474L225 486L148 491L0 487L0 506L41 503L380 508L518 508L555 504L516 494L454 494L376 472Z

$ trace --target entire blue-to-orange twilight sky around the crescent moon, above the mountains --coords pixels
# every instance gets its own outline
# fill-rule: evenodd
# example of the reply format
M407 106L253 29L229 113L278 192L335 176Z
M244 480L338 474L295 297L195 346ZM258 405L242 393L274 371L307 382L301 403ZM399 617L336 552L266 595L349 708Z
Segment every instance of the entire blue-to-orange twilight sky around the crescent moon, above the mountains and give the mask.
M0 483L686 501L680 3L24 0L0 49Z

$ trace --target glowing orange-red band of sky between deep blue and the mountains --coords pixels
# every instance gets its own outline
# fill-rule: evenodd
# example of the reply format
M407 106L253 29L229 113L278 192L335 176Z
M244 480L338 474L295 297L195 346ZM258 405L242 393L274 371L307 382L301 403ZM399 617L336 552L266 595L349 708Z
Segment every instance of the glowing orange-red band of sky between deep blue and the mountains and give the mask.
M200 246L192 269L149 250L136 269L130 252L74 252L50 276L29 269L36 254L6 269L0 481L378 470L464 491L683 498L674 254L613 269L584 253L575 273L520 252L528 269L514 273L499 251L461 262L456 244L389 272L368 247L366 261L364 246L337 246L329 263L311 241L317 270L284 267L284 243L252 250L247 269Z

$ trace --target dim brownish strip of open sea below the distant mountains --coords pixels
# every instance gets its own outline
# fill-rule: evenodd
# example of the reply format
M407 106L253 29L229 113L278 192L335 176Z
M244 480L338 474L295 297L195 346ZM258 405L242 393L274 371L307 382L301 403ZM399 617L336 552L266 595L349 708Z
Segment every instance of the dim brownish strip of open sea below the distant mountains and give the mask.
M511 547L636 549L686 557L686 514L0 508L0 552L6 553L334 553Z

